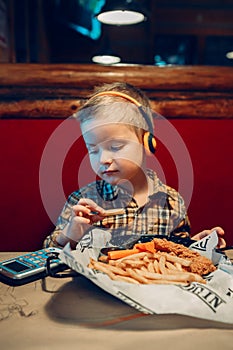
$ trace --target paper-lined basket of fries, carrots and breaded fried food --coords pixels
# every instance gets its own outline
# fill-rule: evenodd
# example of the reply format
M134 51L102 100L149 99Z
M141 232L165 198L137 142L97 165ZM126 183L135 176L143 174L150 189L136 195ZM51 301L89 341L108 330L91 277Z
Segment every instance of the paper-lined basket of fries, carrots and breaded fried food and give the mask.
M147 314L181 314L233 324L232 263L216 249L217 234L201 241L141 236L112 246L93 230L60 258L100 288ZM88 242L88 243L87 243Z

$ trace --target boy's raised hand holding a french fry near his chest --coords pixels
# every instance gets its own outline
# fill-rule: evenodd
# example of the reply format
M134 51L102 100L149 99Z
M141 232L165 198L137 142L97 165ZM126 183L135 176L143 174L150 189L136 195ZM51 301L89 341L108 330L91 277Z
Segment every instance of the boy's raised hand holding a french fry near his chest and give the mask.
M81 198L72 208L72 217L65 236L78 242L90 226L101 219L105 210L89 198Z

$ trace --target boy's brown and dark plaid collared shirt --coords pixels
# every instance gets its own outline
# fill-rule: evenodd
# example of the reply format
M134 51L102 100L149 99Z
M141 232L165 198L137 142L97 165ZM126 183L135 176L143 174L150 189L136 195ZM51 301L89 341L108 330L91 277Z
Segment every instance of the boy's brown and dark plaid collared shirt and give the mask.
M139 207L135 199L122 187L112 186L104 180L97 180L73 192L58 218L54 232L44 241L44 247L59 246L56 236L69 224L72 206L81 198L90 198L104 209L124 208L125 213L106 217L93 224L111 232L112 241L119 236L156 234L169 236L171 233L188 236L190 223L184 200L173 188L163 184L156 173L147 170L153 193L147 203Z

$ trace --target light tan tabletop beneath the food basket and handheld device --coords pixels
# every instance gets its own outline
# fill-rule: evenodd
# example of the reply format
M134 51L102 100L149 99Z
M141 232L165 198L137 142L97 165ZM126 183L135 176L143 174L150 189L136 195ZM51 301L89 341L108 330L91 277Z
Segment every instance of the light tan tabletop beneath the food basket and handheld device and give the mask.
M0 260L19 254L0 253ZM233 349L233 325L144 315L82 276L0 283L0 321L6 350Z

